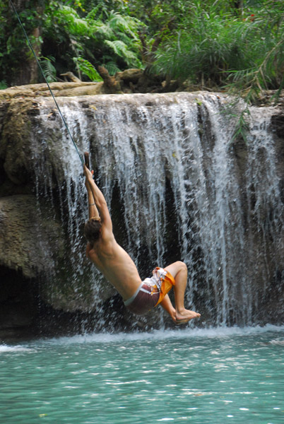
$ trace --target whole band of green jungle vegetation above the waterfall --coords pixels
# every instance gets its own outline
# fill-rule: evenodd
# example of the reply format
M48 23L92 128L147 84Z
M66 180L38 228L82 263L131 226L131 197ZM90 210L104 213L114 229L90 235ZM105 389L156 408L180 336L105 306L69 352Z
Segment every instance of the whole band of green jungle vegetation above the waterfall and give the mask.
M13 0L48 81L97 66L245 93L284 85L283 0ZM9 0L0 0L0 88L41 82Z

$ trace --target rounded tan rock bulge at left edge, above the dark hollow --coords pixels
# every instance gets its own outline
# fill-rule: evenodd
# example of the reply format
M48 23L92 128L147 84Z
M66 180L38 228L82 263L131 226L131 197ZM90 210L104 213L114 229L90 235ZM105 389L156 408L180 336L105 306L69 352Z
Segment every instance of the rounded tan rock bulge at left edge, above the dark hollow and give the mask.
M25 278L47 272L52 257L64 257L61 225L41 213L32 195L0 199L0 265ZM55 253L56 252L56 253Z

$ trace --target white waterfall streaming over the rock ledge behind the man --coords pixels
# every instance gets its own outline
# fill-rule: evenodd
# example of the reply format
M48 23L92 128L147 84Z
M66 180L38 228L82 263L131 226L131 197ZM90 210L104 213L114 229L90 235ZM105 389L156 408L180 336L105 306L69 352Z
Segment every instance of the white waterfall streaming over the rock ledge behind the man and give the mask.
M88 213L81 161L49 100L41 102L34 151L45 183L36 186L49 198L57 192L76 285ZM261 321L271 281L283 272L273 111L252 107L247 143L232 143L229 102L213 93L59 98L79 150L90 151L114 235L141 278L157 265L186 262L187 305L212 325ZM94 267L89 272L95 304L102 277Z

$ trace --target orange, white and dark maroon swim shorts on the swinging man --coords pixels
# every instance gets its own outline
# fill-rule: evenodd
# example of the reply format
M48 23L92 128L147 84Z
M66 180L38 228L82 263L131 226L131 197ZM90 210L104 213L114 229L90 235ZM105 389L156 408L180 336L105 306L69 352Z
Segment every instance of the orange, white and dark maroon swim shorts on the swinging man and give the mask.
M157 266L153 276L142 281L136 293L124 305L134 314L146 314L162 302L174 284L174 277L169 271Z

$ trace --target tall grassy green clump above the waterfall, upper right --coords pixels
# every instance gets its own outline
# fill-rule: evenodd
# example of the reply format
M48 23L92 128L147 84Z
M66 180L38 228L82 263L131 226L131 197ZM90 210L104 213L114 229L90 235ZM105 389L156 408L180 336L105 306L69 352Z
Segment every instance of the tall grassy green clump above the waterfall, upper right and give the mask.
M153 71L199 86L252 90L283 83L284 6L266 0L236 11L220 2L188 2L190 13L155 54ZM254 12L254 13L252 13Z

